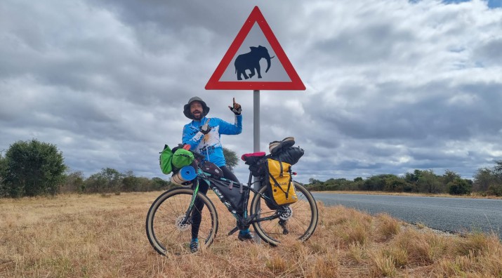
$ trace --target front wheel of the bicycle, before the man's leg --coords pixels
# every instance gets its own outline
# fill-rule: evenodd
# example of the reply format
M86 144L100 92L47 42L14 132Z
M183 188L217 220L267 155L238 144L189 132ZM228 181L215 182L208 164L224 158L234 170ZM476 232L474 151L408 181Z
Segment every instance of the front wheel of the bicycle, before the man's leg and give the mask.
M153 202L147 213L146 232L152 247L159 254L186 255L190 251L192 227L190 224L180 225L190 206L193 190L190 188L176 187L161 194ZM202 193L197 193L197 198L202 199L202 222L199 227L199 242L201 249L209 247L216 232L218 232L218 213L211 200ZM196 208L194 207L194 210Z

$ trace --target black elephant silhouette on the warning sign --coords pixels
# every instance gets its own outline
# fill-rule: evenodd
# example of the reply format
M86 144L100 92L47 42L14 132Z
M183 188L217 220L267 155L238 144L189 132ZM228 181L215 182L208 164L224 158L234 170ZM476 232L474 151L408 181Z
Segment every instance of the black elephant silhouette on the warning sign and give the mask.
M248 53L244 53L241 55L238 55L237 58L235 58L235 73L237 74L237 80L242 80L242 76L244 76L244 79L249 79L253 77L256 72L258 73L258 78L261 78L261 72L260 72L260 60L261 58L265 58L267 60L267 69L265 69L265 72L268 72L268 69L270 69L270 59L274 58L275 56L270 57L268 54L267 48L263 46L250 46L251 51ZM246 74L246 69L249 69L251 73L248 75Z

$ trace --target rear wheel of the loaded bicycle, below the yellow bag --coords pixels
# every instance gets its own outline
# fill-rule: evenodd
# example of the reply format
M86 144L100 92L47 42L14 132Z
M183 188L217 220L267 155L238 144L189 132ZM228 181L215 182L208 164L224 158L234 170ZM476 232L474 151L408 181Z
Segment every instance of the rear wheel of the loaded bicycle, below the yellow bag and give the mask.
M272 220L263 220L253 223L256 234L272 246L277 246L281 241L297 239L307 240L317 227L319 212L312 194L296 182L295 185L298 201L279 209L269 209L265 204L263 194L267 188L260 189L261 194L255 194L251 201L251 216L258 212L258 218L279 216Z

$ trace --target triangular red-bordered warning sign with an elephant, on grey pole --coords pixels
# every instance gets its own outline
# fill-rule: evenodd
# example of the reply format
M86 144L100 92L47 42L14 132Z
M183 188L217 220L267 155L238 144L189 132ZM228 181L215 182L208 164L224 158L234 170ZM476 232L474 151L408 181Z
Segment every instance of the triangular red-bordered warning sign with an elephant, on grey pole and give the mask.
M256 6L206 90L305 90L305 85Z

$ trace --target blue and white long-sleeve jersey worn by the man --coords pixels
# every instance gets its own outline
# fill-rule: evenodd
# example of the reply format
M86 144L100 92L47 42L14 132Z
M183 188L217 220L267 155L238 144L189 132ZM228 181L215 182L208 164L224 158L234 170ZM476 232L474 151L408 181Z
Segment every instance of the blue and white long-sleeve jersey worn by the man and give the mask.
M200 127L209 120L211 131L204 135L199 131ZM220 142L222 134L235 135L242 132L242 115L235 115L235 124L230 124L218 118L202 118L201 121L191 121L183 127L183 144L189 144L190 150L204 155L206 160L216 164L218 167L225 166L223 156L223 146ZM209 159L208 159L209 156Z

